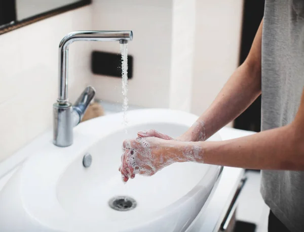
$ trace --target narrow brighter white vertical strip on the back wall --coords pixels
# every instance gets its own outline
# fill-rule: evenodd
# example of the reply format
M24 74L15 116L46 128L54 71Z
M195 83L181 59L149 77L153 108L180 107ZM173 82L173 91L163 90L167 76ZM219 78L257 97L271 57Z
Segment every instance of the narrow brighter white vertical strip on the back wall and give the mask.
M173 1L170 108L190 111L195 49L196 0Z

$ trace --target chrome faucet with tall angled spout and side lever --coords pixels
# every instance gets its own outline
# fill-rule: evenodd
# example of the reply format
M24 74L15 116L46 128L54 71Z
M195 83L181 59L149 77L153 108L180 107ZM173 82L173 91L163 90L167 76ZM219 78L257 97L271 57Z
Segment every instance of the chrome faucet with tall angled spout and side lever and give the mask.
M119 41L127 43L133 38L132 31L74 31L63 37L59 43L59 93L53 105L53 144L67 147L73 143L73 127L80 123L90 102L95 96L95 89L87 86L77 101L72 105L68 100L68 47L74 41Z

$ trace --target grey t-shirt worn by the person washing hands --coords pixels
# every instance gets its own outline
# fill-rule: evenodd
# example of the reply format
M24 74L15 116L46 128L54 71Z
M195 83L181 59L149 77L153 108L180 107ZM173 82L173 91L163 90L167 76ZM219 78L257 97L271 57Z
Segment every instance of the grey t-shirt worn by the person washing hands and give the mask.
M293 121L304 86L304 0L266 0L262 130ZM303 141L304 143L304 141ZM304 231L304 172L262 170L261 194L291 231Z

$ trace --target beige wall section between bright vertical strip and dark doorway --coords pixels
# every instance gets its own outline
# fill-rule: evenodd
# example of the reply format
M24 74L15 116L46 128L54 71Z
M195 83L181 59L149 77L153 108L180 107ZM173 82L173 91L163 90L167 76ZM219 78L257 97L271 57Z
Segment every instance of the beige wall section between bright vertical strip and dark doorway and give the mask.
M242 0L199 1L191 112L202 114L238 67Z

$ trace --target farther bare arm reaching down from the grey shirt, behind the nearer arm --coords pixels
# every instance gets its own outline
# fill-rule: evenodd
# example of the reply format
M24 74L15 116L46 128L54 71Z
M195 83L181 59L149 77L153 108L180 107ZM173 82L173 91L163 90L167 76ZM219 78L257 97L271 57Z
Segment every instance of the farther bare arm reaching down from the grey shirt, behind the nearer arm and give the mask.
M205 141L244 112L260 95L262 24L263 21L245 62L236 69L206 112L180 136L180 140Z

